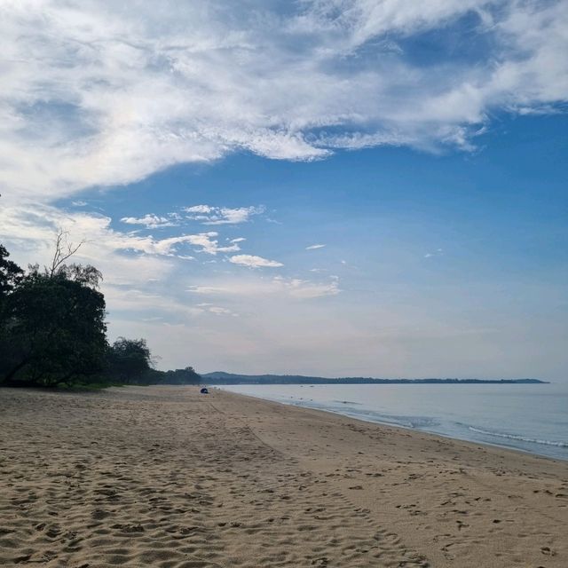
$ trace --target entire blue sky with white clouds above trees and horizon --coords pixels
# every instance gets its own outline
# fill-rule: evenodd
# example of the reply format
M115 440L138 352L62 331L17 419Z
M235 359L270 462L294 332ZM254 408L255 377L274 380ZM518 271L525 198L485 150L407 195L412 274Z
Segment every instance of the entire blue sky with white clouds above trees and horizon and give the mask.
M0 4L0 241L199 372L568 380L568 2Z

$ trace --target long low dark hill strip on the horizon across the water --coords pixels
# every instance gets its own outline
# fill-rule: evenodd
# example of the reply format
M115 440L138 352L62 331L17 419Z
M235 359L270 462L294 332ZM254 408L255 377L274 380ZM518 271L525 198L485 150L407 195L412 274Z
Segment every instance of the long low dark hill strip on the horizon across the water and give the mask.
M209 384L534 384L548 383L539 379L374 379L348 376L330 379L304 375L235 375L215 371L201 375L202 383Z

